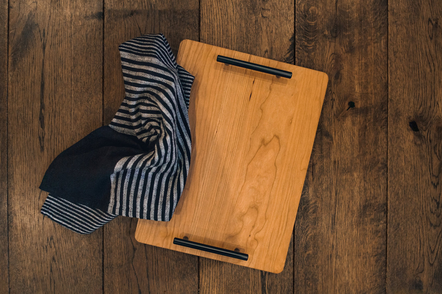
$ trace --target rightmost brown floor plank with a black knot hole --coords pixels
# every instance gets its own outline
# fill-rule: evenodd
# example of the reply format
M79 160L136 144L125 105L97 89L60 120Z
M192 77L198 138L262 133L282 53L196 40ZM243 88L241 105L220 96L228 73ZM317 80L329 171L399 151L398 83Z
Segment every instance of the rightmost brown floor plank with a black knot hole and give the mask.
M442 6L389 3L387 292L442 293Z

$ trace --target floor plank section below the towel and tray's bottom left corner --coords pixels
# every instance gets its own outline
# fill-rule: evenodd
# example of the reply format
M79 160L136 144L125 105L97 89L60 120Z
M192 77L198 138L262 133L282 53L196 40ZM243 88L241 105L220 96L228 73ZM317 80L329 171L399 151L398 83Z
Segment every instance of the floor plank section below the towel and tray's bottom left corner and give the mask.
M139 243L134 238L138 220L119 219L105 228L105 238L113 241L105 243L104 293L198 292L195 256Z

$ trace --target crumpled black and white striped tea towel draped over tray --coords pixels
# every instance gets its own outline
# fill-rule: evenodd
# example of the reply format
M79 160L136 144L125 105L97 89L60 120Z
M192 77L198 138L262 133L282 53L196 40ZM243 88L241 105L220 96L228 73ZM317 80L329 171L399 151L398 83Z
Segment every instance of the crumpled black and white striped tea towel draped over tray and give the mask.
M61 152L40 189L41 212L80 234L118 215L168 221L191 158L187 110L194 80L163 34L118 47L126 97L109 125Z

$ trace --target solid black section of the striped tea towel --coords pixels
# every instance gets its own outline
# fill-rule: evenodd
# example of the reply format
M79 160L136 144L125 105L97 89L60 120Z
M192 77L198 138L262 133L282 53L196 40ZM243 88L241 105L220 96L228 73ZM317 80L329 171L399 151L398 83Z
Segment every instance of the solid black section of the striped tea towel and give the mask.
M74 203L107 211L110 175L126 156L153 151L154 142L103 126L61 152L46 171L40 189Z

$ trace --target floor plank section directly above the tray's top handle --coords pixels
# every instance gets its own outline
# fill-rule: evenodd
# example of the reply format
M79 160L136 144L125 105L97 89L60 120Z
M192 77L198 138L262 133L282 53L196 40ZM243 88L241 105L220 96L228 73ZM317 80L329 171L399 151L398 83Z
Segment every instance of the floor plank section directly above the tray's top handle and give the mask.
M206 44L286 61L287 52L293 52L293 24L293 0L201 0L201 42Z

